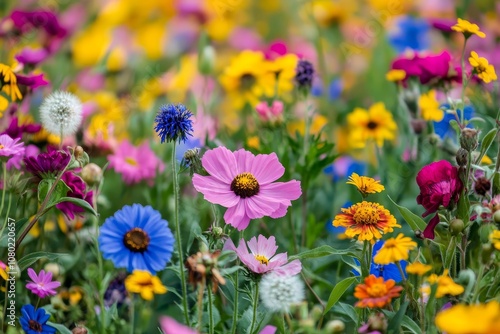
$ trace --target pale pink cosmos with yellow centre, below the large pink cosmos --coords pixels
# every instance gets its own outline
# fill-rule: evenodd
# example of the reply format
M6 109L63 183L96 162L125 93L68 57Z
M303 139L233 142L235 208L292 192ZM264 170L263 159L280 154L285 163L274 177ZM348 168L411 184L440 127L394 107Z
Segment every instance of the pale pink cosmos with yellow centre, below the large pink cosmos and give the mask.
M248 252L247 244L252 253ZM256 274L272 271L278 276L293 276L302 270L302 264L299 260L287 263L286 253L276 254L278 246L276 246L276 239L273 236L266 239L263 235L259 235L258 239L253 237L248 243L241 239L237 248L231 239L227 239L224 249L235 251L241 262Z

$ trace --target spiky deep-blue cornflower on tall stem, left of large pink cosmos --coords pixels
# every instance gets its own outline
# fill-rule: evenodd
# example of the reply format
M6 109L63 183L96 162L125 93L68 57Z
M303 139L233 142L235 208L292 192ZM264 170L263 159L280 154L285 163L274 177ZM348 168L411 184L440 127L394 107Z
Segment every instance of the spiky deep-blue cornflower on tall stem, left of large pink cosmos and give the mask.
M155 118L155 131L161 142L186 142L187 136L193 135L193 114L185 105L179 103L164 104Z

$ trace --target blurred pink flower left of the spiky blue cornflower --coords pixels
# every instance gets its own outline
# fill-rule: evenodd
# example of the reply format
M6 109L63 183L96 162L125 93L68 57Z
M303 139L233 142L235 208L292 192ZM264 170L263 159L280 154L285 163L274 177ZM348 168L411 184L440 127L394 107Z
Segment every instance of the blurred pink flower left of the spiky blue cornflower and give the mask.
M108 155L109 166L122 175L123 181L131 185L142 180L152 184L156 173L162 172L165 165L149 148L149 144L133 146L129 141L123 141L115 150Z

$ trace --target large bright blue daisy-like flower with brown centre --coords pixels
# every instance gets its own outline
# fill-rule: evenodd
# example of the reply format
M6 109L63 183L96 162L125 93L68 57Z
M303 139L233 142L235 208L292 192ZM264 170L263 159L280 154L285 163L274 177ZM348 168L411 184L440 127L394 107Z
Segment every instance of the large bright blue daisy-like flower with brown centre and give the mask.
M101 226L99 249L116 268L151 274L165 268L174 251L168 222L151 206L125 205Z

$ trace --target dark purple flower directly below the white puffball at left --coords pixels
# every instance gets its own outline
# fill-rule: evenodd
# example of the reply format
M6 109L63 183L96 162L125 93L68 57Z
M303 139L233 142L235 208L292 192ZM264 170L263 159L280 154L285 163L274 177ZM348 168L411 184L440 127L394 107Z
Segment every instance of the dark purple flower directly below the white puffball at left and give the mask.
M24 158L26 170L38 179L54 177L62 171L71 160L67 152L50 150L47 153L40 153L36 157Z

